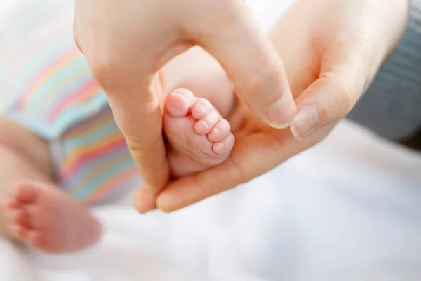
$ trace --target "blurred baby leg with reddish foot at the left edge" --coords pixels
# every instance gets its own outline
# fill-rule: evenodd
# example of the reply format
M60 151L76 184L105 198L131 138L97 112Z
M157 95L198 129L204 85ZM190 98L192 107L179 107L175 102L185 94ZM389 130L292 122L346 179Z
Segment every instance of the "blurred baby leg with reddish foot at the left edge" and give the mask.
M55 187L48 144L0 119L0 234L50 253L77 251L100 237L88 209Z

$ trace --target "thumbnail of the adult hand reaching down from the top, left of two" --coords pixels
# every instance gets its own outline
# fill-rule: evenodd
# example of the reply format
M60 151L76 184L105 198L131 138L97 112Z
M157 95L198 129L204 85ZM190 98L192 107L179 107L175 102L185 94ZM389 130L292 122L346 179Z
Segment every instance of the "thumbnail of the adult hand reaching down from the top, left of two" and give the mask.
M268 108L267 123L275 129L288 128L296 110L293 98L288 95L283 96Z

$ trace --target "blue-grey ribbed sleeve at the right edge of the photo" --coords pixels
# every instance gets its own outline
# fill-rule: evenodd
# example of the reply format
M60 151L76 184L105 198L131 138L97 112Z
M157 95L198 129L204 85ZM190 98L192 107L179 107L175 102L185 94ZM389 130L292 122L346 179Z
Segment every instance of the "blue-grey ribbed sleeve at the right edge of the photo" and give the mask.
M410 1L399 46L348 118L383 138L421 150L421 0Z

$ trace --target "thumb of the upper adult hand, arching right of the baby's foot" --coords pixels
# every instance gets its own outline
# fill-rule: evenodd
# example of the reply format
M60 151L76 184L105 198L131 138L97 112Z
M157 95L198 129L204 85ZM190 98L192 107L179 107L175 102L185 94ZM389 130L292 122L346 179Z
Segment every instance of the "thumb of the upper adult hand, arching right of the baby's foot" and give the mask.
M270 126L286 128L296 106L279 55L243 1L224 1L223 13L212 12L213 2L194 29L186 27L189 35L219 61L250 110Z

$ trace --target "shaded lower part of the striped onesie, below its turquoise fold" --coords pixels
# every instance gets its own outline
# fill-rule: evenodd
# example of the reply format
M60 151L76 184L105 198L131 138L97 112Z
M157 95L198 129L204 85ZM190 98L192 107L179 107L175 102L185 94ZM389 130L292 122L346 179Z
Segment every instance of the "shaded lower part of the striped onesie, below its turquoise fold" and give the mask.
M139 177L109 107L67 129L57 143L60 183L77 200L100 202Z

